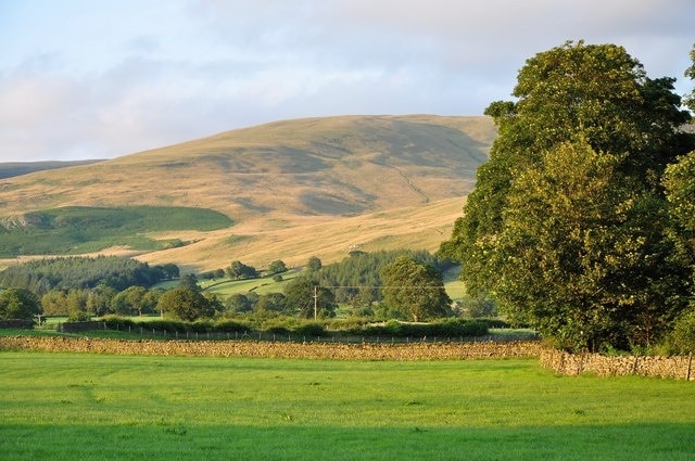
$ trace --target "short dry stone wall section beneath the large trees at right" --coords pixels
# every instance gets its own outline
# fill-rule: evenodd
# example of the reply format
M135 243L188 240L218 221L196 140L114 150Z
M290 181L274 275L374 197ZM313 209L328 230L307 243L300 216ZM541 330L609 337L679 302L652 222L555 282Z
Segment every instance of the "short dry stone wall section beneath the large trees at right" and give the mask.
M559 374L594 373L598 376L639 375L695 381L693 356L640 357L604 356L601 354L568 354L543 348L540 354L543 367Z

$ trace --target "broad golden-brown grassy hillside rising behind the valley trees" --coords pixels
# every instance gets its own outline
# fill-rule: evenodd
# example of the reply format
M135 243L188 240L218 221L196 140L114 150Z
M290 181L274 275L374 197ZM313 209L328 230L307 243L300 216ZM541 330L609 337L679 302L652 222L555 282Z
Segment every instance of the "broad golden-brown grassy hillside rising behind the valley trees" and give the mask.
M189 245L139 256L197 269L233 259L299 264L313 254L330 260L354 245L434 249L460 214L495 136L486 117L278 121L2 179L0 219L24 222L27 213L65 206L220 212L235 226L160 230L156 239Z

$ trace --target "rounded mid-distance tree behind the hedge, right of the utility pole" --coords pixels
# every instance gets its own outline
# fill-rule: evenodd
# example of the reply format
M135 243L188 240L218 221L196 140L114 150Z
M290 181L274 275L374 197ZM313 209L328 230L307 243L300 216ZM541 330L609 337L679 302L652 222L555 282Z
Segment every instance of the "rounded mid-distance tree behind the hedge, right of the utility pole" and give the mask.
M381 270L383 302L394 312L413 321L445 317L452 303L442 273L407 256L399 257Z

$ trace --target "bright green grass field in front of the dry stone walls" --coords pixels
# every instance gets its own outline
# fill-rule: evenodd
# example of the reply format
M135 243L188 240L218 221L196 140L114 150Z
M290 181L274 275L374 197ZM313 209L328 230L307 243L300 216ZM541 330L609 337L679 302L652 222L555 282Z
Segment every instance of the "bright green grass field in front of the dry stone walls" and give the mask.
M9 460L686 460L695 387L536 360L0 354Z

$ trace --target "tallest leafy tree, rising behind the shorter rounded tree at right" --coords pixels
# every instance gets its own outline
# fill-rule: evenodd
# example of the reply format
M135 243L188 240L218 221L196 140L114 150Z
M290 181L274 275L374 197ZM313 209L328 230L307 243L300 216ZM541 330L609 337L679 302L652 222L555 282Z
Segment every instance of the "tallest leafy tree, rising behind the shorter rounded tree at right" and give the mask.
M649 79L622 47L580 41L527 61L514 90L517 102L494 102L485 114L498 127L490 161L478 169L476 190L456 220L444 256L463 264L462 280L473 295L492 290L489 264L504 228L514 174L539 165L543 154L579 138L596 152L620 155L618 168L658 187L669 162L690 151L690 119L679 108L673 79Z

